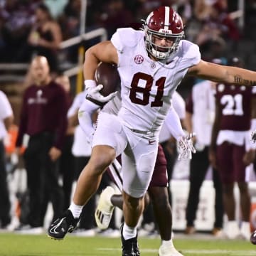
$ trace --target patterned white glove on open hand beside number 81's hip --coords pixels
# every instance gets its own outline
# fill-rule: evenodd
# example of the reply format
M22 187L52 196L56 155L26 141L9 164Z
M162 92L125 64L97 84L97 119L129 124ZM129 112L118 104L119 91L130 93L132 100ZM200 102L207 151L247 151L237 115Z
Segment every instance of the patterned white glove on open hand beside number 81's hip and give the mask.
M196 134L191 133L186 136L178 137L177 146L178 146L178 161L183 159L192 159L192 153L196 153L196 149L193 147L192 138Z

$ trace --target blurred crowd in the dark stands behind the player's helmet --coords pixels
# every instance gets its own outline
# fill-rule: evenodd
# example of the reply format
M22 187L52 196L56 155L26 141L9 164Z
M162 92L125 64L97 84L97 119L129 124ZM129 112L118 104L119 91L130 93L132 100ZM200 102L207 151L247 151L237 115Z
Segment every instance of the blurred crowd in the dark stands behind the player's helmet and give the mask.
M248 27L255 25L254 0L246 1L243 16L242 11L238 11L238 1L228 0L86 2L85 31L104 27L109 38L119 27L138 27L140 20L158 6L175 6L183 18L186 38L201 47L204 58L235 50L241 38L252 37ZM1 0L0 61L29 62L36 53L43 53L50 58L50 67L58 69L60 42L80 34L81 8L82 0ZM238 25L241 16L244 26ZM86 42L86 46L92 43L95 41ZM68 49L68 61L77 61L76 49Z

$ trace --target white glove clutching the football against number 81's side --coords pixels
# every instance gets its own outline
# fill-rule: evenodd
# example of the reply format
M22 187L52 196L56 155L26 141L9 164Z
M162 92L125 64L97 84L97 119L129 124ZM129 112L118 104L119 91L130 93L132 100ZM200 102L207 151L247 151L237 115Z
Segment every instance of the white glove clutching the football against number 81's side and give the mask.
M112 92L107 96L103 96L100 93L100 90L102 90L103 85L97 85L96 87L88 87L86 98L87 100L91 100L97 105L104 105L105 103L112 100L113 97L117 95L117 92Z

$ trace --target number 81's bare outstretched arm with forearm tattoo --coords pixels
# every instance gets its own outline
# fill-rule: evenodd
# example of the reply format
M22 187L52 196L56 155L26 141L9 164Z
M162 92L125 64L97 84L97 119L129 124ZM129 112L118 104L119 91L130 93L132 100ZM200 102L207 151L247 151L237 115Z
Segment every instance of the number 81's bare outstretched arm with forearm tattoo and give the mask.
M188 69L188 75L214 82L225 82L233 85L256 85L256 72L243 68L208 63L201 60Z

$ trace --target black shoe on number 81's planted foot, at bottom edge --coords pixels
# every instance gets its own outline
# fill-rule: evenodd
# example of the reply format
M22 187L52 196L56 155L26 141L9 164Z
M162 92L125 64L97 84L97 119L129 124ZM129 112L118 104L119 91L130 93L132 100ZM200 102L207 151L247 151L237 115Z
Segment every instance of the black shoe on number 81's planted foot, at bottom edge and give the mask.
M122 240L122 256L140 256L137 235L135 238L124 240L124 237L122 235L123 227L124 227L124 223L122 223L120 227L121 240Z

